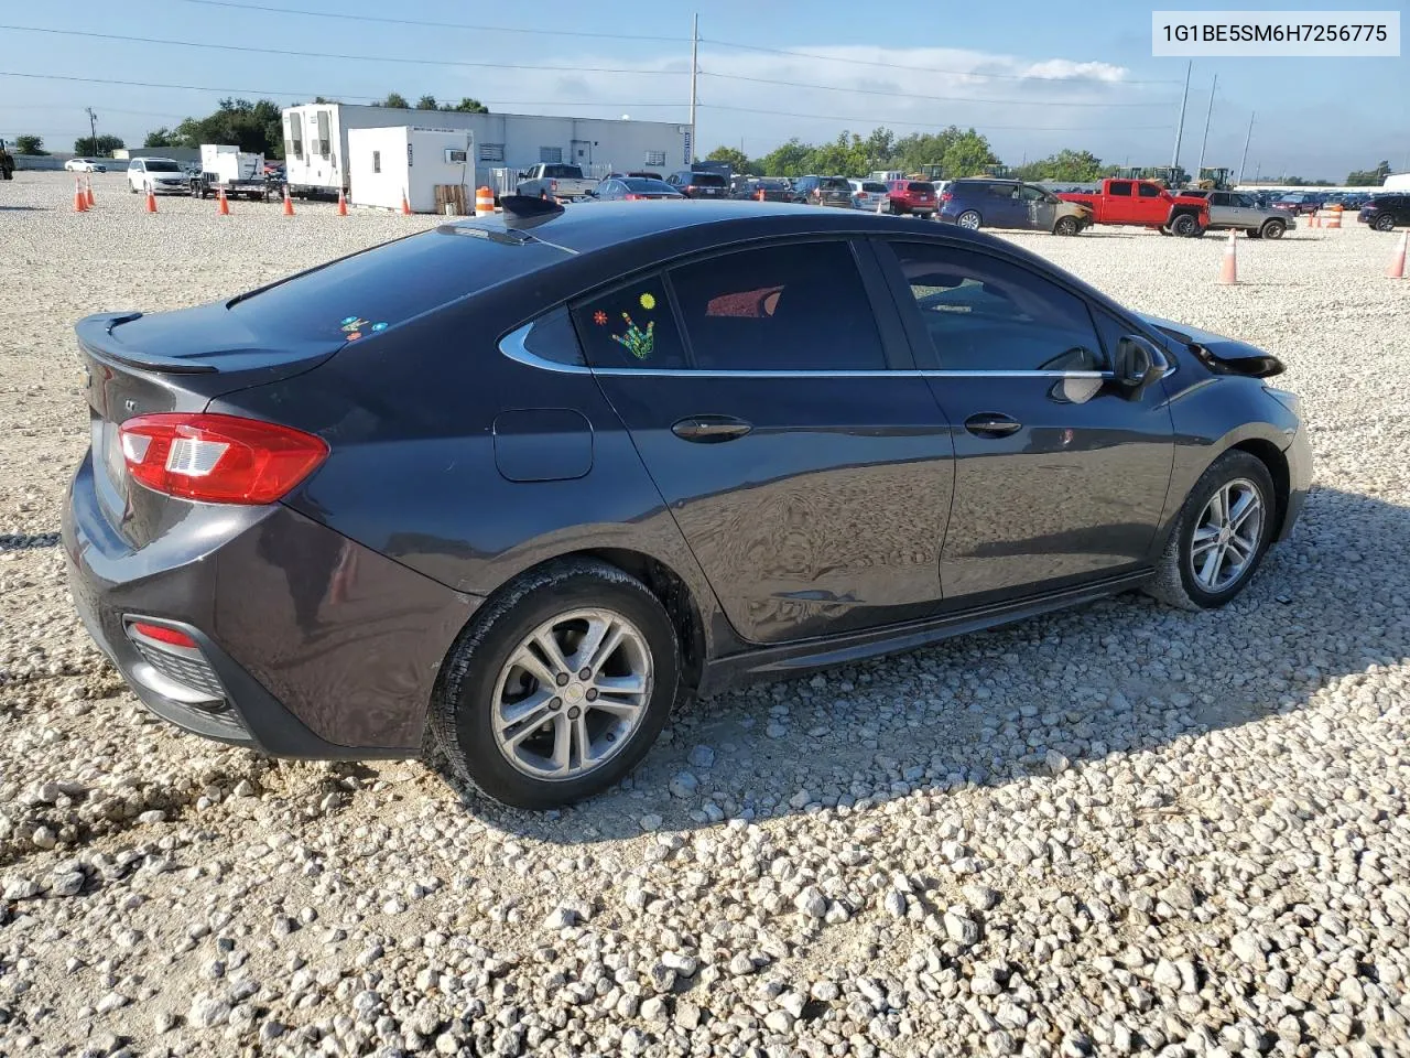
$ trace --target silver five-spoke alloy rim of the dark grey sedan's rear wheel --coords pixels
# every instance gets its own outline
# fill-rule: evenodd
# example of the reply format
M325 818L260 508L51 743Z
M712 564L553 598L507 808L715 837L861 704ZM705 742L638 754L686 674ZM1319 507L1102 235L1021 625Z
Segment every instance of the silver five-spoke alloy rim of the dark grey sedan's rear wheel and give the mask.
M495 681L495 745L523 774L550 782L595 772L630 741L651 700L651 652L611 609L546 621Z

